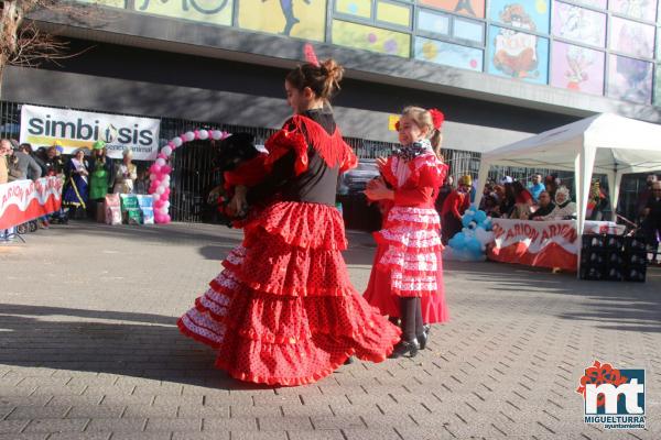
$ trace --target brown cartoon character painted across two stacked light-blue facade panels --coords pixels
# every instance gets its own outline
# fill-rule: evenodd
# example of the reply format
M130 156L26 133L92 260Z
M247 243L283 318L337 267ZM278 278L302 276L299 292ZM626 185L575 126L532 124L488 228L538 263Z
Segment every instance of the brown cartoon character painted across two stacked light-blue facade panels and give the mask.
M535 31L534 22L518 3L508 4L500 13L500 21L512 28ZM537 77L537 40L535 35L500 28L495 40L494 66L512 78Z

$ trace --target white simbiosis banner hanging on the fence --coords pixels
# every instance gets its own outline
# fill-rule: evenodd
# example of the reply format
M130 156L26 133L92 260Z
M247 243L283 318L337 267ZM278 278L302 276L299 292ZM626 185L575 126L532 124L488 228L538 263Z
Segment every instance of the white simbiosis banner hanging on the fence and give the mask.
M154 161L159 153L161 121L119 114L22 106L21 143L34 150L59 142L65 154L76 148L91 148L101 140L108 156L120 158L126 147L133 150L137 161Z

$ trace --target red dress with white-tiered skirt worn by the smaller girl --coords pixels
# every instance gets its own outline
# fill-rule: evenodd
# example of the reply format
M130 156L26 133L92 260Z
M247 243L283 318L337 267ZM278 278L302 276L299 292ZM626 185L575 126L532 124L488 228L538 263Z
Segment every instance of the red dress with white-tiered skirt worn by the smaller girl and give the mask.
M391 156L381 172L394 189L394 205L375 233L378 248L365 299L383 315L400 317L400 297L422 297L425 323L447 321L434 209L447 165L430 147L410 161Z

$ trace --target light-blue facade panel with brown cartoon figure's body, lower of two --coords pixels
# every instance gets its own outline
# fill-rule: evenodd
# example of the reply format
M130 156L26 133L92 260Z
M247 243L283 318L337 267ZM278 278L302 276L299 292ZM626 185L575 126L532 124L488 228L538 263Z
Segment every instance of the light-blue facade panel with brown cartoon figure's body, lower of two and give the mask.
M510 29L489 28L489 74L530 82L549 81L549 40Z

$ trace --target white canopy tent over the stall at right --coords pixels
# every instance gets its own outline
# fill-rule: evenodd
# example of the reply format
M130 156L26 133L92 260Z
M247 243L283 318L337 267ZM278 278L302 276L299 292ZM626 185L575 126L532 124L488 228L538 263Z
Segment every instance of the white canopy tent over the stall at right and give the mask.
M593 173L608 177L615 215L624 174L661 169L661 125L597 114L484 153L478 182L487 182L491 165L574 170L577 232L583 234ZM477 189L479 206L483 191Z

